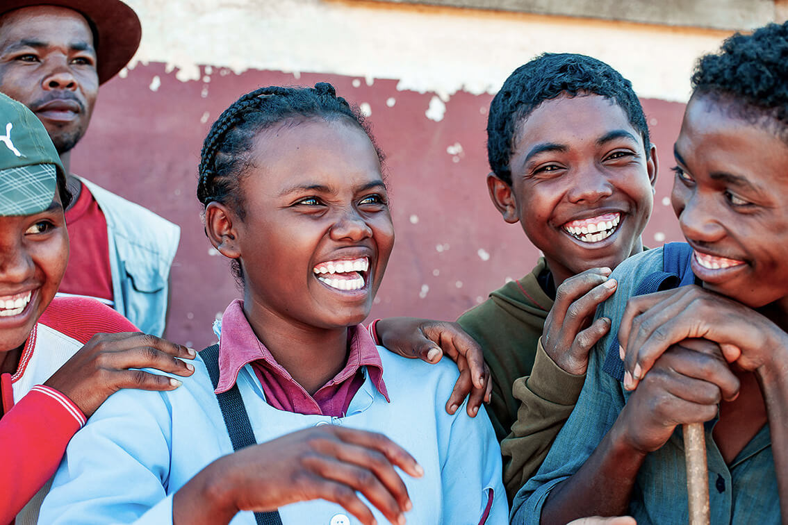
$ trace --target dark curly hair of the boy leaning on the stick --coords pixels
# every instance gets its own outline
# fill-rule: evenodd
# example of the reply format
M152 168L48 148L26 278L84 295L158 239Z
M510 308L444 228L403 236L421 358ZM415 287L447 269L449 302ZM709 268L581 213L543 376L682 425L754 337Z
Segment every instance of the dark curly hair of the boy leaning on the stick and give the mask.
M788 142L788 22L727 38L719 53L698 59L692 87L753 124L770 117L770 130Z

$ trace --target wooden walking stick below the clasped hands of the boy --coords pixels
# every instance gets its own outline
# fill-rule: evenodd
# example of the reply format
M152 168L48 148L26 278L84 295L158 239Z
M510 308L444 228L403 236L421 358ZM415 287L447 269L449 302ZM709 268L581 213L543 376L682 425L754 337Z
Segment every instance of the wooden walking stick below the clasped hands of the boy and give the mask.
M703 423L682 425L684 457L687 464L687 495L689 496L689 525L708 525L708 467L706 438Z

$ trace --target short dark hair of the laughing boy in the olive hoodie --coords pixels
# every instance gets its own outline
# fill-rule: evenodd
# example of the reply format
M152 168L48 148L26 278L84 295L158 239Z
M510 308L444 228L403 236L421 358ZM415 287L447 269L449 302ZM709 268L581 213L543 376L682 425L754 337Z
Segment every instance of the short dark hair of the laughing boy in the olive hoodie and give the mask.
M545 53L511 73L490 104L487 120L487 157L495 175L511 185L509 161L520 124L545 100L598 94L611 98L651 150L649 126L632 83L596 58L574 53Z

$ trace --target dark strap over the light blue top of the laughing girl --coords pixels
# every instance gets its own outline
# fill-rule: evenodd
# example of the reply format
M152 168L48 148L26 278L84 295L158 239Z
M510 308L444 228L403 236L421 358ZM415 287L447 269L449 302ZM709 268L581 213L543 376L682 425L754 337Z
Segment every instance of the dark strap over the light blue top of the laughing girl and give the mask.
M203 349L199 356L203 358L205 368L208 369L208 375L210 375L210 383L214 385L214 390L216 390L219 384L219 346L209 346ZM216 394L216 399L219 409L221 409L221 416L225 419L225 427L230 435L232 449L240 450L257 444L255 432L251 430L249 415L246 405L243 404L238 385L233 384L230 390ZM255 521L257 525L282 525L279 511L255 512Z

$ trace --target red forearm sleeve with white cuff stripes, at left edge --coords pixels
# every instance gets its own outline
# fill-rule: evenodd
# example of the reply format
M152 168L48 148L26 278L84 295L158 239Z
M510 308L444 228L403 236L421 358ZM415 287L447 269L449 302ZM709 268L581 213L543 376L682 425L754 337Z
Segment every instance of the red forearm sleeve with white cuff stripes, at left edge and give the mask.
M10 523L57 470L65 446L84 423L58 392L35 386L0 419L0 523Z

